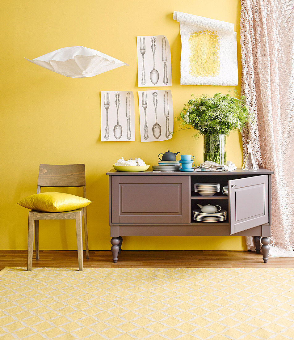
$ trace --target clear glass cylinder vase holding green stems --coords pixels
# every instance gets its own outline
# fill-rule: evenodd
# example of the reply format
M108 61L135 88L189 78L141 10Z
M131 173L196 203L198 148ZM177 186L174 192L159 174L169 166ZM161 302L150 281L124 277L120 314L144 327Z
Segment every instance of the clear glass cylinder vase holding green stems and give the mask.
M203 158L212 162L225 165L227 163L226 135L204 135Z

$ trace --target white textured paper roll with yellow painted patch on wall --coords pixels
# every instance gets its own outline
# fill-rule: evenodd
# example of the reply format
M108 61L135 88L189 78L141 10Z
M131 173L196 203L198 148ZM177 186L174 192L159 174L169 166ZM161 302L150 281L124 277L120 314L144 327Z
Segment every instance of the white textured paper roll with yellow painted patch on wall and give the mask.
M174 12L180 23L182 85L238 85L234 24Z

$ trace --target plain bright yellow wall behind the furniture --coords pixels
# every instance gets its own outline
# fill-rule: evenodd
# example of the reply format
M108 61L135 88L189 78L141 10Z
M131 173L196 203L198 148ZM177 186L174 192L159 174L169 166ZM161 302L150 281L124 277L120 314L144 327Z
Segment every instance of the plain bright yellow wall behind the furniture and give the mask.
M109 249L108 178L121 156L156 164L168 149L203 157L192 130L172 140L140 142L136 36L167 36L172 54L174 114L192 92L213 95L234 87L180 85L179 23L173 11L232 22L238 32L239 0L6 0L1 4L1 249L26 249L28 210L16 203L36 192L38 166L85 163L90 249ZM66 46L86 46L129 64L92 78L67 78L29 63ZM241 71L238 45L239 75ZM240 79L240 77L239 77ZM236 87L240 91L239 85ZM136 141L101 142L100 91L132 90ZM177 125L175 126L175 128ZM176 129L175 129L176 130ZM228 159L241 166L239 133L227 139ZM78 190L67 192L79 194ZM241 237L125 237L124 249L243 250ZM41 249L76 249L72 221L40 223Z

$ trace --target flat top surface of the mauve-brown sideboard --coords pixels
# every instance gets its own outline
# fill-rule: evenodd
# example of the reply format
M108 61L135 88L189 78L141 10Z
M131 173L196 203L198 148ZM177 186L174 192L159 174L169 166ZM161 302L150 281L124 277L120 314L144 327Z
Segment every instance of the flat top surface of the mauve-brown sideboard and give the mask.
M159 171L142 171L142 172L120 172L114 169L111 169L106 173L107 176L166 176L166 175L175 175L175 176L185 176L185 175L272 175L274 172L267 169L258 169L258 170L242 170L235 169L233 171L194 171L194 172L184 172L184 171L167 171L167 172L159 172Z

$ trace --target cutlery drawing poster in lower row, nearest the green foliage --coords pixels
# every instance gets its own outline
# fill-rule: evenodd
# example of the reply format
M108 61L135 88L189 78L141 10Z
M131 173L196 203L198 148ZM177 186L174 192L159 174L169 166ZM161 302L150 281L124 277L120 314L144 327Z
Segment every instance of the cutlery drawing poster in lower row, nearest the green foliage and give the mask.
M171 90L139 91L141 142L172 138L174 128Z

